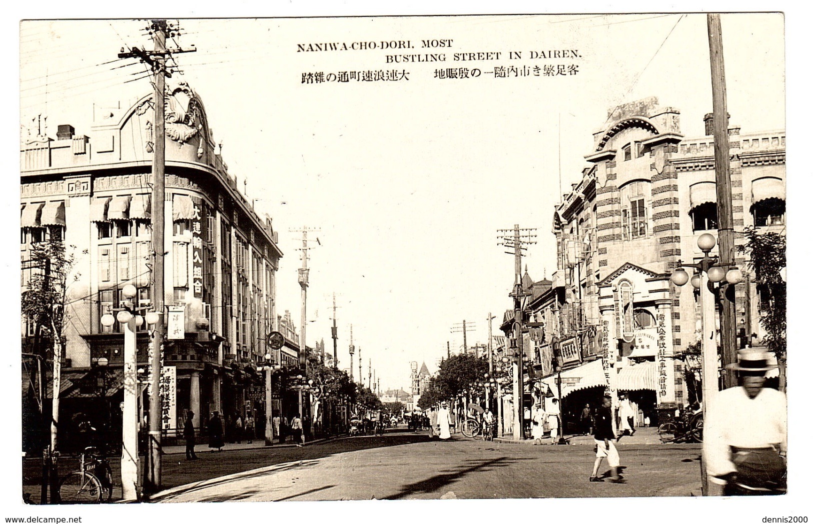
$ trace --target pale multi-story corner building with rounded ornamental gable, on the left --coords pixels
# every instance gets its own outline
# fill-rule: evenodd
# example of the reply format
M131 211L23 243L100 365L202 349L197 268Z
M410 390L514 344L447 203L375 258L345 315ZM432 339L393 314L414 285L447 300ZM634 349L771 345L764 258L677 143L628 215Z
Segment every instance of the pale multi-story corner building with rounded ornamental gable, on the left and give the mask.
M139 306L183 310L185 333L166 340L163 352L164 366L174 372L168 375L174 405L164 417L172 432L182 427L186 409L201 424L214 411L243 415L258 408L251 385L259 380L256 362L267 353L266 335L277 327L282 252L271 219L260 217L238 191L197 93L186 84L167 89L165 137L154 136L153 106L150 94L126 110L105 111L89 136L60 125L55 139L44 132L24 139L20 255L26 260L33 243L49 239L75 246L68 248L76 254L76 281L67 289L63 386L87 383L105 357L114 378L106 396L121 396L123 327L100 320L119 307L124 285L137 288ZM156 139L166 141L160 203L166 293L159 300L150 288L151 217L159 205L151 201ZM289 340L274 357L295 366L298 344L289 319L284 331ZM137 333L139 366L148 363L147 346L145 324ZM92 396L81 391L76 396ZM63 405L71 409L70 402ZM115 411L118 402L111 405Z

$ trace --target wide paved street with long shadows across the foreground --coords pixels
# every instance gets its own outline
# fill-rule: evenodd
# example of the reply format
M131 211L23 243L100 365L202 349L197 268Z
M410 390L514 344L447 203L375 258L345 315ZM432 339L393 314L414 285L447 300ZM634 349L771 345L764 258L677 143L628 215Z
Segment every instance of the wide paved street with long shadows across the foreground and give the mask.
M588 483L592 446L428 441L388 433L305 448L201 453L166 461L158 502L689 496L699 492L699 446L619 445L627 483ZM179 457L180 458L180 457ZM602 470L608 470L603 468ZM219 478L210 478L217 471ZM186 481L185 483L183 481Z

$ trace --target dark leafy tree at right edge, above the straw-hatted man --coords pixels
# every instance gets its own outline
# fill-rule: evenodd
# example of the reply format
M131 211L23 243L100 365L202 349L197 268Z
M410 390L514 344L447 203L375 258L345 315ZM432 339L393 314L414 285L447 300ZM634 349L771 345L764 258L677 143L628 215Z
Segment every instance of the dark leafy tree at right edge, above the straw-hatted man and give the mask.
M785 359L787 353L787 284L781 270L787 265L785 236L778 233L759 233L754 227L744 232L746 244L738 245L739 253L746 253L748 267L754 271L754 281L767 292L769 307L763 311L759 323L765 330L764 342L776 355L779 363L780 388L785 389ZM750 333L747 334L750 337Z

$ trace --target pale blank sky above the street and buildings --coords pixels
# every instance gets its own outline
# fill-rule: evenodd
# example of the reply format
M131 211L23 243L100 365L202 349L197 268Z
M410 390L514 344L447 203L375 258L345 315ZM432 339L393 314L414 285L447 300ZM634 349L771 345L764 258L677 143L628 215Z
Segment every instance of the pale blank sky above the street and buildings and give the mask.
M783 24L779 14L722 16L728 112L743 132L785 128ZM122 47L152 49L145 27L22 22L22 121L46 115L52 136L62 123L89 134L94 106L127 107L149 93L145 67L117 58ZM580 180L607 110L658 97L680 110L686 136L702 135L711 112L702 14L181 19L180 28L168 45L196 51L176 54L182 74L167 81L202 98L229 173L273 219L285 253L278 313L299 324L297 230L315 229L307 342L324 338L332 351L335 293L340 366L350 364L352 324L363 375L372 360L383 389L408 388L410 362L433 370L447 343L459 349L463 335L452 331L464 320L469 344L487 341L489 313L500 334L514 261L498 229L536 228L523 265L533 279L552 275L554 204ZM448 46L424 49L424 40ZM381 50L382 41L412 49ZM324 42L376 49L298 52ZM535 58L551 50L569 56ZM454 60L472 53L500 56ZM398 54L446 62L387 63ZM533 76L546 65L570 74ZM495 66L532 73L495 77ZM435 77L451 67L480 76ZM303 73L367 70L408 80L302 82Z

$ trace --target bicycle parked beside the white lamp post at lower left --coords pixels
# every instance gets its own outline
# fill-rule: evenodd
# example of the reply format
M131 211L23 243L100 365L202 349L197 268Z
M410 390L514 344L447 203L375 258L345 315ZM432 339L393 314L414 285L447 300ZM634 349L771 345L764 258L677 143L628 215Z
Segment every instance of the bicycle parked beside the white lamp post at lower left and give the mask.
M59 481L59 500L63 504L98 504L113 496L113 472L110 461L97 448L80 453L79 470Z

